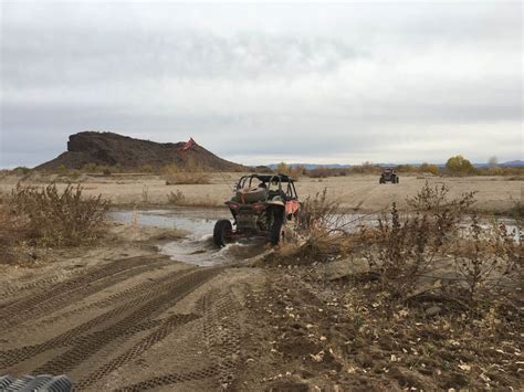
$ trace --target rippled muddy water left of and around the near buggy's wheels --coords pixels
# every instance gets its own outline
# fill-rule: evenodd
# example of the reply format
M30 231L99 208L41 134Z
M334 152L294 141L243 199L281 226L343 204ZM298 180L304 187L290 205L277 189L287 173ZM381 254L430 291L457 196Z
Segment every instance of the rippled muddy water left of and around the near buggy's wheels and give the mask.
M159 248L160 253L177 262L211 266L249 261L268 252L266 244L260 239L242 240L223 248L217 248L212 240L213 227L218 220L231 218L227 209L113 211L109 218L120 223L129 224L136 221L139 225L188 232L187 239L169 242Z

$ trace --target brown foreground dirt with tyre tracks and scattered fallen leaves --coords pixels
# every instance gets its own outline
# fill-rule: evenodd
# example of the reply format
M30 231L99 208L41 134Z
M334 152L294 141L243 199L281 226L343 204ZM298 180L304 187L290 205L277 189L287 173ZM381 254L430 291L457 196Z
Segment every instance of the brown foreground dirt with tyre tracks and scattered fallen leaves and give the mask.
M65 373L77 391L523 386L515 333L481 319L461 346L461 312L391 316L352 277L358 258L197 267L158 254L179 236L113 224L97 246L0 265L0 375Z

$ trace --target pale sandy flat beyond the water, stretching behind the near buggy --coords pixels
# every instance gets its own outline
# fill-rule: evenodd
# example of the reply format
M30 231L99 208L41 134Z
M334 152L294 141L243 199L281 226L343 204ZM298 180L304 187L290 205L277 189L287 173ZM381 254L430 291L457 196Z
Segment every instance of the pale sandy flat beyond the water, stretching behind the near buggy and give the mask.
M210 184L166 186L158 176L118 176L84 177L82 186L87 194L102 194L115 204L166 204L168 195L174 192L184 194L182 204L201 206L220 206L231 197L231 186L239 173L210 174ZM0 179L0 190L9 191L20 179ZM49 178L30 178L23 183L38 184L49 182ZM55 178L57 181L64 179ZM504 177L417 177L401 176L399 184L379 184L378 176L347 176L327 179L301 178L296 183L298 197L305 200L327 189L331 199L342 206L359 212L373 212L390 205L391 202L402 208L407 197L416 194L428 181L432 186L446 184L450 195L464 192L476 192L476 209L483 212L504 213L516 201L524 198L524 181L510 180ZM61 186L64 186L63 183Z

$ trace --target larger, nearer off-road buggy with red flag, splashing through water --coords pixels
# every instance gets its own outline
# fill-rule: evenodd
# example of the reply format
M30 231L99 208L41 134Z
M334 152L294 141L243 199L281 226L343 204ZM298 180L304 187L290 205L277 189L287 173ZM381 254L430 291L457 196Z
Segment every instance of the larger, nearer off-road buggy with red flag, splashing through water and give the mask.
M220 247L241 237L263 237L277 245L284 226L296 222L300 210L294 180L285 174L241 177L226 205L233 223L220 220L214 224L213 242Z

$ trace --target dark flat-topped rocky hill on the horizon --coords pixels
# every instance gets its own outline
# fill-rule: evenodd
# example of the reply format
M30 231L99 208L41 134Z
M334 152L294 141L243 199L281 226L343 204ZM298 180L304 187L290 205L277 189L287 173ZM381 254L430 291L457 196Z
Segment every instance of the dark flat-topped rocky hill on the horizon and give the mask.
M184 146L184 141L161 144L114 133L83 131L70 136L67 151L35 169L56 170L59 167L82 169L90 163L120 166L124 169L135 169L147 165L159 168L175 163L185 168L189 161L193 161L197 162L199 169L209 171L249 170L242 165L217 157L198 144L186 152L182 152Z

